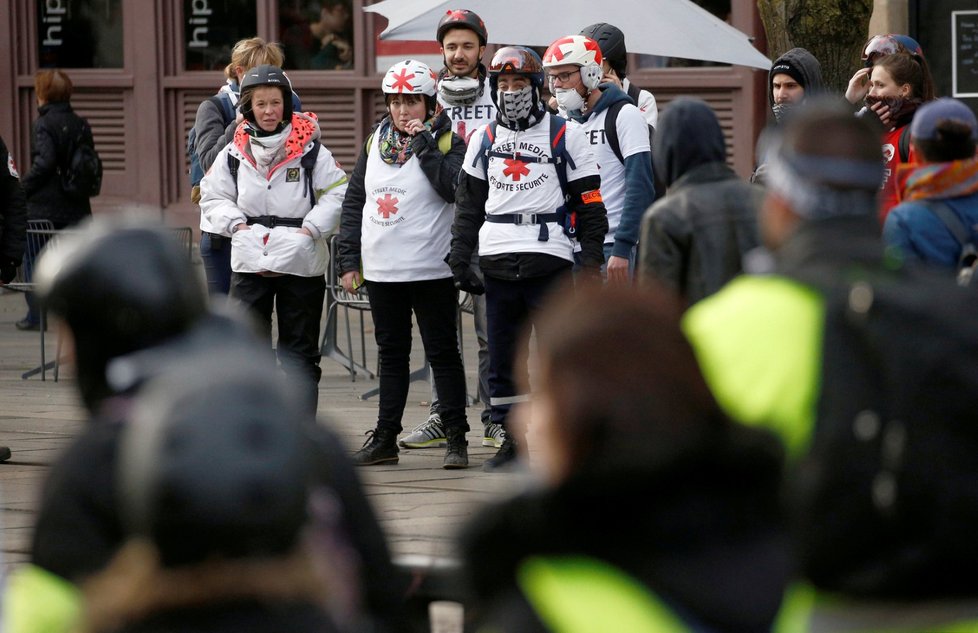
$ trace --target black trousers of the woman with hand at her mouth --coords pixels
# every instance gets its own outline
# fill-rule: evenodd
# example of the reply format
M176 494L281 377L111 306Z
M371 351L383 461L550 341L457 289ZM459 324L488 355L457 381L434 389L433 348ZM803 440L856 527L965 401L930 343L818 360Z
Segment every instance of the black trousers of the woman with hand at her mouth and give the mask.
M469 430L465 419L465 372L458 351L457 292L451 278L430 281L367 282L374 338L380 356L380 410L377 426L397 433L407 403L411 375L411 312L418 319L425 355L440 398L446 428Z

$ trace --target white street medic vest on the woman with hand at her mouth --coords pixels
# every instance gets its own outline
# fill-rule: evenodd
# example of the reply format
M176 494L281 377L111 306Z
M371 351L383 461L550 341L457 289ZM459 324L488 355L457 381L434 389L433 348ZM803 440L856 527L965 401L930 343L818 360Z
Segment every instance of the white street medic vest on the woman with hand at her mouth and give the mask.
M416 156L400 166L385 163L379 136L374 134L371 140L363 176L366 200L360 223L360 258L364 279L451 277L444 258L451 248L453 206L435 191Z

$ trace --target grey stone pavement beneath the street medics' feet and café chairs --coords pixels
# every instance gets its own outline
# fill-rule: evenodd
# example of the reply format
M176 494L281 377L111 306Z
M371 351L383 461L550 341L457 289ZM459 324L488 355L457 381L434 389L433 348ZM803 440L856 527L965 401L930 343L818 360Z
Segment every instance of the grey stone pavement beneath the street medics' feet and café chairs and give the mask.
M20 294L0 290L0 445L10 446L13 451L12 459L0 464L0 543L4 571L27 560L41 484L51 463L79 433L86 419L75 393L70 363L61 368L57 382L51 372L43 381L39 375L21 379L23 372L40 361L39 333L21 332L14 327L24 311ZM357 317L352 320L354 347L359 355ZM376 370L376 349L370 327L367 314L367 365ZM469 391L474 393L476 345L470 315L463 317L463 331ZM340 337L345 348L342 318ZM51 332L46 337L49 359L53 358L56 346L57 336ZM419 366L423 359L417 336L412 358L412 367ZM359 396L376 387L377 381L358 376L352 382L345 367L326 358L322 367L321 417L352 452L360 447L364 432L373 428L376 421L376 397L362 400ZM427 382L412 383L404 415L405 430L424 421L429 399ZM482 462L495 449L481 446L479 411L477 407L467 409L472 427L469 433L472 467L467 470L443 470L443 449L402 449L398 465L359 469L395 557L424 560L453 556L456 531L480 504L525 485L523 475L482 472Z

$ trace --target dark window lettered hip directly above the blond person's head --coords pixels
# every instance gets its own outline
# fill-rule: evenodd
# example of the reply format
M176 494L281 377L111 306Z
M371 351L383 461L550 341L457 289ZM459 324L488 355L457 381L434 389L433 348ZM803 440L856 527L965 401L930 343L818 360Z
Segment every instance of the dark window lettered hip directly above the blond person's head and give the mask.
M258 32L254 0L184 0L185 70L224 70L238 40Z

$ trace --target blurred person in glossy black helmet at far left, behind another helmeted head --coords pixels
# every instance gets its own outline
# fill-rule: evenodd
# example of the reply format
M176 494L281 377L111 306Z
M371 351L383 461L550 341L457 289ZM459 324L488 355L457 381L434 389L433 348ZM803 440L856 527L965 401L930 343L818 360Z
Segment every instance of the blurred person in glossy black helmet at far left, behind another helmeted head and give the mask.
M75 626L77 585L102 570L122 544L126 532L118 507L116 456L133 395L143 382L187 371L228 348L247 355L249 360L240 363L264 367L269 376L277 371L253 328L205 309L203 279L162 227L96 220L62 237L41 258L37 273L39 298L63 322L74 348L78 387L91 420L45 481L30 564L16 570L8 584L6 633ZM339 442L321 427L310 433L323 456L317 462L322 480L345 482L335 486L346 495L339 500L339 516L344 537L361 560L363 579L349 583L360 600L350 611L358 614L362 607L390 625L381 630L397 630L402 592L376 519L362 493L346 494L358 493L359 483Z

